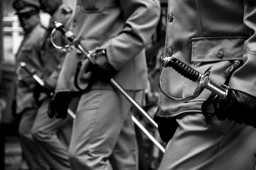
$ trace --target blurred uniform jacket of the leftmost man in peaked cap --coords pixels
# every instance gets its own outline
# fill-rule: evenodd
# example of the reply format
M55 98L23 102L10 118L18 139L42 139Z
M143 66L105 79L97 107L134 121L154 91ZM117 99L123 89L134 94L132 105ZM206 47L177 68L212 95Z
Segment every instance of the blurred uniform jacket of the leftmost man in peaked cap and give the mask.
M45 29L38 24L24 37L16 54L17 67L19 62L26 62L29 69L33 68L38 75L42 73L43 63L40 54L40 41L44 31ZM17 80L17 113L21 113L27 108L36 107L33 99L33 90L31 89L34 87L35 81L28 74L24 74L24 71L20 71L20 74L25 79L24 81Z

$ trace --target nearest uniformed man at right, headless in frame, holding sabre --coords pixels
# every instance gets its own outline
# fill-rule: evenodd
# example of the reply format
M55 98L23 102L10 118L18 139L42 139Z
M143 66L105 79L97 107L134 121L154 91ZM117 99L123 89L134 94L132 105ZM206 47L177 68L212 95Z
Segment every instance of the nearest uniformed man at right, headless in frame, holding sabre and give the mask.
M168 3L165 57L180 59L201 73L212 66L210 78L231 89L226 100L212 101L217 115L212 118L204 117L213 111L205 101L209 90L182 103L162 95L156 121L164 140L172 139L159 169L255 169L256 1ZM234 60L243 66L235 67ZM227 68L234 73L228 69L227 76L223 74ZM164 69L162 80L173 97L188 97L195 90L196 83L170 68Z

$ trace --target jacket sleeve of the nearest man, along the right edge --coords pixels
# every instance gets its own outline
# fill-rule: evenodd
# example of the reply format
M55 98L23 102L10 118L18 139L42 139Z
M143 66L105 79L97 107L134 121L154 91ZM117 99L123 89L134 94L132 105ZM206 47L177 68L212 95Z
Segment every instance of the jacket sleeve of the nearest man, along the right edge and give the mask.
M249 37L244 41L243 66L230 79L232 89L256 96L256 1L244 1L244 29Z

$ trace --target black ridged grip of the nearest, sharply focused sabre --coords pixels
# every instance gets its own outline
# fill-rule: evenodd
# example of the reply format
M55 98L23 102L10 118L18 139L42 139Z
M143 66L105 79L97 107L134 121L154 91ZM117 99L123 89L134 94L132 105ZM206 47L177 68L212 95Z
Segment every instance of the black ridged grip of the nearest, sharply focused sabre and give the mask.
M192 67L188 66L184 62L181 62L178 59L172 58L166 66L173 67L182 76L188 78L189 80L196 81L200 77L200 72L196 71Z

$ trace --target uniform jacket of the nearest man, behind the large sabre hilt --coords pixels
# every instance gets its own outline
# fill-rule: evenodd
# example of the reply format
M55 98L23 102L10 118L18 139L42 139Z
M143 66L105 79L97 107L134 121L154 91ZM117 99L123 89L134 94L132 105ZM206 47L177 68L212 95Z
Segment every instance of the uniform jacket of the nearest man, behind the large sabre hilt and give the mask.
M169 0L164 55L176 57L204 73L212 66L210 78L223 84L223 71L232 60L243 60L230 79L232 89L256 96L256 1L255 0ZM165 68L163 89L173 97L193 94L194 83L173 69ZM201 112L204 92L188 102L177 103L161 95L161 116Z

